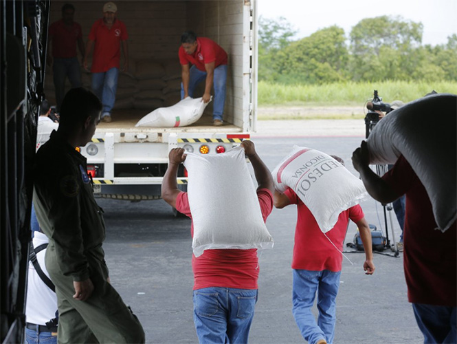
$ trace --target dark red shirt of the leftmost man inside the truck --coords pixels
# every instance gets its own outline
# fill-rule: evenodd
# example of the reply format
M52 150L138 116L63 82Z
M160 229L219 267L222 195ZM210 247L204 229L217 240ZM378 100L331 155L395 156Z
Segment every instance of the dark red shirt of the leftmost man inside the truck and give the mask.
M49 26L48 34L49 39L52 39L52 56L71 58L78 55L76 44L82 38L81 25L73 22L71 28L67 28L63 19L60 19Z

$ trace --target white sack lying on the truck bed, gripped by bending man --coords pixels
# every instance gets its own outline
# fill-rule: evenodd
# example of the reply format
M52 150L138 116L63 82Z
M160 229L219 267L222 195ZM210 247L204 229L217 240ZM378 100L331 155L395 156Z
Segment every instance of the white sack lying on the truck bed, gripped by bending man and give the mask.
M200 119L205 107L202 98L187 97L170 107L159 107L144 116L135 127L186 127Z

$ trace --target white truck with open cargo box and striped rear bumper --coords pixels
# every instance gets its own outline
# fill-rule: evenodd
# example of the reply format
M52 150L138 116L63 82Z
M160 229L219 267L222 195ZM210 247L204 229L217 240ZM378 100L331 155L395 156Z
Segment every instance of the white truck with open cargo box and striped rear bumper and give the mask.
M58 19L60 3L64 2L52 2L54 18L51 19ZM103 3L75 3L75 21L81 23L85 41L91 23L100 17ZM161 61L162 65L175 63L180 70L179 39L185 30L213 39L228 54L223 126L212 125L210 104L200 120L188 127L135 127L137 121L154 108L142 106L145 103L135 97L145 91L134 88L133 106L124 109L115 107L113 122L100 122L92 142L81 147L93 177L95 192L100 197L153 200L160 197L170 149L183 147L194 153L216 154L240 144L243 139L249 138L251 131L255 131L258 70L256 0L117 1L116 4L118 18L124 21L129 32L131 60L136 63L132 76L137 84L147 84L142 71L151 72L151 68L144 67L148 61ZM170 78L172 76L164 75L161 79ZM48 85L50 81L49 78ZM122 86L120 78L118 95ZM203 88L201 94L194 94L196 97L201 95ZM117 102L125 104L123 99ZM186 189L183 167L179 170L179 185Z

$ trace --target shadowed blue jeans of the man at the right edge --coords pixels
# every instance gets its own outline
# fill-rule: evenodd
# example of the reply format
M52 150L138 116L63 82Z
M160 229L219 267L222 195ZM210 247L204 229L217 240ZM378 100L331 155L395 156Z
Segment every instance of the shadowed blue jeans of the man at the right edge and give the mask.
M424 343L457 343L456 307L412 303Z

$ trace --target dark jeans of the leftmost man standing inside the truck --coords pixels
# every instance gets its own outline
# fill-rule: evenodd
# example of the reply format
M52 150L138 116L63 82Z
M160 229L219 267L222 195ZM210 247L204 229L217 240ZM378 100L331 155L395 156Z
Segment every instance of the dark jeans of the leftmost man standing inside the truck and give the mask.
M81 86L81 67L78 57L54 58L52 73L56 88L56 111L60 112L60 105L65 96L65 79L68 77L71 87Z

